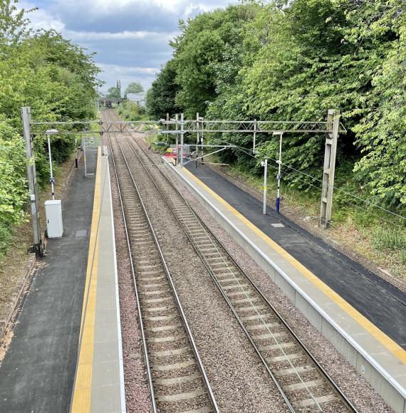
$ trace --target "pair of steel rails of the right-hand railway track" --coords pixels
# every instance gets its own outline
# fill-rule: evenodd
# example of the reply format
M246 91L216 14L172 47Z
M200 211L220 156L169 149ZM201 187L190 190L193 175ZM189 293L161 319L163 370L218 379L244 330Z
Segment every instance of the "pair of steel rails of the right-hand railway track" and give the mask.
M137 147L140 147L140 149L142 150L142 152L145 154L145 156L147 158L149 158L150 162L152 162L152 164L157 165L154 160L152 160L152 157L150 157L150 155L145 151L144 148L142 148L142 146L135 140L133 139L133 142L137 143ZM134 150L134 148L133 148ZM162 193L161 189L157 186L157 183L155 182L155 179L152 178L152 175L150 174L150 172L147 170L147 167L145 167L144 162L142 162L142 160L140 159L139 155L137 154L137 152L134 150L135 155L137 155L137 157L140 160L140 163L142 164L142 166L145 168L147 174L149 174L150 178L152 179L152 182L155 184L155 187L157 187L157 190L160 192L160 194L162 195L163 199L165 200L167 206L170 208L170 210L172 211L172 214L175 216L175 219L177 219L177 221L179 222L179 225L182 227L184 233L186 234L187 238L189 239L189 241L191 242L192 246L194 247L195 251L197 251L198 255L200 258L202 258L202 261L204 263L204 266L206 266L207 270L210 273L210 276L212 276L212 279L214 280L214 282L216 283L217 287L219 288L219 291L222 293L222 296L225 298L225 300L227 301L227 304L229 305L229 307L231 308L232 312L234 313L234 315L236 315L236 311L234 308L234 305L229 301L229 298L227 297L227 294L224 292L223 288L219 285L218 281L217 281L217 277L214 274L214 272L212 271L212 268L210 268L210 266L208 265L206 258L204 256L202 256L201 251L199 251L195 246L194 246L194 241L191 239L191 237L189 236L188 232L186 231L186 229L184 228L184 223L180 222L177 214L175 214L175 211L173 211L172 206L170 206L169 202L167 202L166 197L164 196L164 194ZM164 179L170 184L170 186L172 187L173 190L175 190L175 192L177 192L177 194L179 195L179 197L182 198L184 204L186 204L190 211L192 212L192 214L194 215L195 219L197 219L197 221L199 221L199 224L202 226L202 228L204 229L204 231L206 231L206 233L209 236L212 236L214 238L215 241L217 241L217 243L219 244L219 246L224 250L224 252L227 254L227 258L229 258L229 260L231 261L231 263L233 263L236 268L239 269L239 271L243 274L243 276L245 276L245 278L249 281L249 283L251 284L251 286L254 288L254 290L256 291L256 293L259 293L259 296L261 297L262 300L264 300L264 302L269 306L269 308L271 308L272 312L274 313L274 315L276 315L276 318L278 318L281 323L283 324L284 328L286 328L288 330L288 332L291 334L291 336L294 338L294 340L296 340L296 343L298 343L298 345L301 347L301 349L306 353L306 356L309 357L309 359L311 360L311 362L313 362L313 364L315 365L315 367L317 368L318 372L321 373L321 375L323 377L326 378L328 385L330 385L330 387L332 388L332 390L338 394L338 396L340 397L340 399L343 401L343 403L345 404L345 406L352 412L356 412L355 407L353 406L353 404L347 399L347 397L345 397L345 394L343 394L343 392L340 390L340 388L338 387L338 385L336 385L336 383L334 382L334 380L328 375L328 373L323 369L323 367L321 367L321 365L317 362L317 360L315 359L315 357L313 357L313 355L311 354L311 352L308 350L308 348L306 347L306 345L304 345L301 340L297 337L297 335L293 332L293 330L291 329L291 327L288 325L288 323L286 323L286 321L282 318L282 316L279 314L279 312L276 310L276 308L274 308L273 305L271 305L271 303L269 303L269 300L267 300L264 295L261 293L261 291L259 290L259 288L256 286L256 283L254 283L254 281L251 279L251 277L249 277L245 271L241 268L241 266L239 266L238 263L236 263L236 261L234 261L234 258L232 258L230 256L230 254L227 252L227 249L224 248L224 246L222 246L222 243L219 241L219 239L217 239L217 236L215 236L214 234L212 234L212 231L210 231L207 226L205 226L205 224L202 222L201 219L199 219L199 216L197 216L196 212L194 211L194 209L192 208L192 206L189 205L189 203L186 201L186 199L184 199L183 195L180 194L179 190L177 189L177 187L171 182L171 180L169 179L169 177L167 177L166 174L164 174L162 172L162 170L160 168L159 169L162 177L164 177ZM155 171L157 170L155 169ZM272 379L274 380L274 382L276 382L276 386L278 387L278 390L281 392L283 399L287 399L286 394L283 392L283 390L281 390L281 386L279 385L279 382L277 381L276 377L274 377L274 374L271 372L268 363L264 360L264 357L261 355L261 352L259 351L258 347L256 347L256 345L254 344L253 340L251 339L249 333L246 331L246 328L244 327L244 323L242 322L242 320L239 318L239 315L236 315L237 320L239 321L239 324L241 325L241 327L244 330L244 333L246 333L247 337L249 338L249 341L251 342L251 344L254 346L254 350L256 350L257 354L259 355L259 357L261 358L261 361L264 362L264 365L266 366L266 370L270 373ZM291 403L288 402L288 407L291 409L291 412L294 412L293 407L291 407Z

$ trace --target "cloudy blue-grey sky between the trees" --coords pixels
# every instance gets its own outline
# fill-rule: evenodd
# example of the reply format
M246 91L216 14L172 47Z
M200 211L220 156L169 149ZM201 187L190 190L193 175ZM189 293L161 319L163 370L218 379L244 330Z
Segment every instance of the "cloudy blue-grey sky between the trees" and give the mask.
M171 57L179 19L227 6L231 0L20 0L38 7L34 28L55 29L89 52L103 70L105 91L120 79L122 90L139 82L145 90Z

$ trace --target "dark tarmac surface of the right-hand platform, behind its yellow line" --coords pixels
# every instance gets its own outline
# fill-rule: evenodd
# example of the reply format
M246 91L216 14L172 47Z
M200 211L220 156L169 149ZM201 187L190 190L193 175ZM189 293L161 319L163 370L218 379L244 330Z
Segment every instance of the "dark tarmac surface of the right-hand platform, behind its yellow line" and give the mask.
M187 169L406 350L406 294L207 166ZM273 226L272 224L282 224Z

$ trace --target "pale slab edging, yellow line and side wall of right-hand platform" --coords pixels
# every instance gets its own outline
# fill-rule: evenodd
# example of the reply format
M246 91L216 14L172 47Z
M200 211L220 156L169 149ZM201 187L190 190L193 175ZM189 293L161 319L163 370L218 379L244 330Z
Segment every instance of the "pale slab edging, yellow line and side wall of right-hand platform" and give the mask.
M365 375L394 411L406 413L405 350L219 197L209 188L212 179L204 183L185 168L169 164L167 167L259 263L308 320Z

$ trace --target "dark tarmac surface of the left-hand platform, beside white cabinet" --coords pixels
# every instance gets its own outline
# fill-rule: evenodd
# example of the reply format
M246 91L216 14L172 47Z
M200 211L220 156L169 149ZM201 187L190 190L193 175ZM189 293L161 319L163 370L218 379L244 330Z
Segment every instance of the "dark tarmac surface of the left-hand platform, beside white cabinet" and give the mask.
M96 152L88 151L94 172ZM83 162L63 200L63 236L50 239L0 366L0 412L68 412L75 375L92 218L93 175Z

